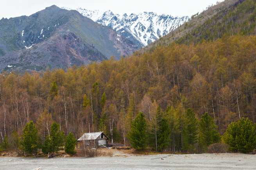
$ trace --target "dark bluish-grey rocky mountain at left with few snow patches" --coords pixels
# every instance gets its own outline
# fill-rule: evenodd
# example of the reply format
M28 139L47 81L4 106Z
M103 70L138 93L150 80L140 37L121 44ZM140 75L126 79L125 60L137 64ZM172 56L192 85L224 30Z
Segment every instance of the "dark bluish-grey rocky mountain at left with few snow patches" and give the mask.
M140 47L108 26L55 5L31 16L0 20L0 70L68 68Z

